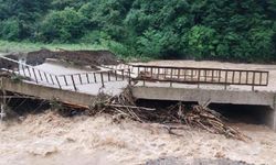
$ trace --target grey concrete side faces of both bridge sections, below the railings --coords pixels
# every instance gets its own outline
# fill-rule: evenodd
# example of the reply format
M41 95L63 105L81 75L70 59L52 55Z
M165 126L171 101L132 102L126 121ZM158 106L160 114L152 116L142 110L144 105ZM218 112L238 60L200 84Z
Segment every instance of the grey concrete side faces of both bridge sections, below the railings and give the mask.
M79 106L89 107L95 95L76 92L72 90L61 90L55 87L30 84L28 81L14 82L10 78L1 77L0 87L7 91L34 96L40 99L57 99L63 102L74 102ZM267 91L231 91L213 90L199 88L178 88L178 87L147 87L132 86L134 97L147 100L173 100L183 102L222 103L222 105L246 105L263 106L268 111L266 123L276 130L276 94ZM266 112L267 113L267 112Z

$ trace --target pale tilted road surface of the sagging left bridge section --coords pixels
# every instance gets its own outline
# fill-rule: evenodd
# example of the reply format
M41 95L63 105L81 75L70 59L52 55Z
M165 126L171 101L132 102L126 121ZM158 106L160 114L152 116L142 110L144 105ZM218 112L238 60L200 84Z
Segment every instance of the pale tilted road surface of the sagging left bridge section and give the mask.
M107 73L105 73L105 70L108 70L108 69L103 69L104 72L103 81L105 86L103 87L100 74L94 75L93 73L97 73L95 70L85 70L85 69L67 66L61 63L52 63L52 62L38 65L35 66L35 68L47 72L47 73L54 73L55 75L60 75L59 81L61 85L63 85L62 89L64 90L74 91L73 81L72 81L72 78L70 77L70 75L73 75L76 91L87 94L87 95L93 95L93 96L98 95L98 92L105 92L108 95L118 95L121 92L121 89L124 89L128 85L127 75L123 79L121 72L117 73L118 77L116 78L115 75L112 75L112 73L108 77ZM65 85L64 77L62 77L61 75L66 76L66 84L68 85ZM47 86L57 88L57 86L52 86L52 85L47 85Z

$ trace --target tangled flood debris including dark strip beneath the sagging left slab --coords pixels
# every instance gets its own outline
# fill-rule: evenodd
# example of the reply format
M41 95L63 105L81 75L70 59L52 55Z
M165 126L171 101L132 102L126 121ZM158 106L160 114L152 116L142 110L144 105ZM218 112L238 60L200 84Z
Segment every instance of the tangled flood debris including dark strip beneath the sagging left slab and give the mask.
M24 98L25 96L20 96ZM44 100L45 101L45 100ZM183 129L173 127L176 124L189 128L199 128L215 134L223 134L226 138L241 141L248 141L250 138L241 133L224 122L224 118L216 111L204 106L185 106L182 102L169 107L140 107L136 105L132 97L131 87L117 96L108 96L100 92L89 107L76 105L74 102L64 102L59 99L49 100L51 109L56 110L63 117L73 117L75 114L96 116L99 113L109 113L114 122L119 123L124 119L131 119L138 122L161 123L163 129L170 134L181 136L173 130Z

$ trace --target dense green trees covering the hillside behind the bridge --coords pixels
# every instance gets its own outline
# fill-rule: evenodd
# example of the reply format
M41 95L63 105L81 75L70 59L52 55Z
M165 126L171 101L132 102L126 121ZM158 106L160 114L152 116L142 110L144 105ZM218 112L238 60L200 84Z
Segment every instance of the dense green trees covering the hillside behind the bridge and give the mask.
M0 38L125 56L276 59L275 0L0 0Z

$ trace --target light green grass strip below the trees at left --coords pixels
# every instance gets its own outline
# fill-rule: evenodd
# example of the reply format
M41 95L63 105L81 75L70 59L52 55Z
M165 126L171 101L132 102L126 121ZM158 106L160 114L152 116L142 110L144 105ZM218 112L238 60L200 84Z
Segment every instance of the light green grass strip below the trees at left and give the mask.
M76 51L76 50L108 50L102 45L93 44L44 44L44 43L32 43L32 42L9 42L0 40L0 52L31 52L39 51L41 48L47 48L55 51L57 48Z

